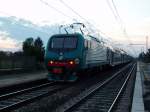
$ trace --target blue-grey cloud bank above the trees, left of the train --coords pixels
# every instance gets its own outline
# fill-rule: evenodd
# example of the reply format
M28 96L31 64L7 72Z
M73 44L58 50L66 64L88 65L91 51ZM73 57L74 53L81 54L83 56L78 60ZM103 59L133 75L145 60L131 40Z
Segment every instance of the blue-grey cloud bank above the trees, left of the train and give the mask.
M41 37L46 45L49 37L58 33L58 25L36 25L30 21L20 19L14 16L0 17L0 31L8 32L12 39L24 41L26 38ZM3 38L6 38L4 36Z

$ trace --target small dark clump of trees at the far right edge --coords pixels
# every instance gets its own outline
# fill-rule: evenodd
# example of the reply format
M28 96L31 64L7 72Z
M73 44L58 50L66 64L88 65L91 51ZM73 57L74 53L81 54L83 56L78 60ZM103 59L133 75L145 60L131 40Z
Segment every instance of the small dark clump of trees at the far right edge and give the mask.
M146 53L142 52L139 54L139 59L143 62L150 63L150 49Z

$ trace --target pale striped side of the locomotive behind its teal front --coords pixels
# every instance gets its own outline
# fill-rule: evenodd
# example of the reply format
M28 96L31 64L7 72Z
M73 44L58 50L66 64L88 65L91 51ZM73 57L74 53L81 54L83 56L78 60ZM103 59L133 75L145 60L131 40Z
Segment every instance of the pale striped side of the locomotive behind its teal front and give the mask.
M108 48L104 43L90 35L84 38L85 62L86 68L93 68L101 65L109 64L107 59Z

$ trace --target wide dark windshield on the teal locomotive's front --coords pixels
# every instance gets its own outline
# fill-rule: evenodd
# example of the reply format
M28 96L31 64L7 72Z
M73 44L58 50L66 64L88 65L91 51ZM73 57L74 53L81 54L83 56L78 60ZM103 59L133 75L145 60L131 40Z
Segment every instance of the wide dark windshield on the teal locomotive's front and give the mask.
M76 37L53 37L49 45L50 49L75 49L77 46Z

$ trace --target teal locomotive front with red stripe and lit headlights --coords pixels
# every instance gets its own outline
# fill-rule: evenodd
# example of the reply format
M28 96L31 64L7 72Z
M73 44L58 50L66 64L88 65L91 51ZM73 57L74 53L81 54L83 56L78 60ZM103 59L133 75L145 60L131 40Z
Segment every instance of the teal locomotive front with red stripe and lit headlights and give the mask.
M82 64L82 48L83 37L80 34L53 35L45 52L48 80L75 81Z

